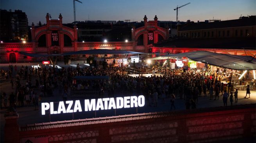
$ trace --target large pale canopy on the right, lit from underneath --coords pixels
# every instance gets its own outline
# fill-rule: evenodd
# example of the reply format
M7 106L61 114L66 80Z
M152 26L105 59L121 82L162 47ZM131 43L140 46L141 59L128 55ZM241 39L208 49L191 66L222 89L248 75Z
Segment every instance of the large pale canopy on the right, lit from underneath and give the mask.
M170 54L163 57L187 57L209 65L220 66L233 70L256 70L256 59L252 56L239 56L231 54L218 54L208 51L184 52Z

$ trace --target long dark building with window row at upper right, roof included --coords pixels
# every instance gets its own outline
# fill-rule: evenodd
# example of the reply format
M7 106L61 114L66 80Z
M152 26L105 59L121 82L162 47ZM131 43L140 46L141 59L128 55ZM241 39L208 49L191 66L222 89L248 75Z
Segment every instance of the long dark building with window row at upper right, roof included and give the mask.
M190 22L180 25L179 38L255 37L256 16L214 22Z

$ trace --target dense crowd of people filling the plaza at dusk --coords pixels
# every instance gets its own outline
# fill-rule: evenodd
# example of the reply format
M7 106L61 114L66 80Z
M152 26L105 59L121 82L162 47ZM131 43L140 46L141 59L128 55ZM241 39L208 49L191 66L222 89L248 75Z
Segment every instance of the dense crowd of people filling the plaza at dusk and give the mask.
M144 69L138 68L138 70ZM6 82L10 82L13 92L9 96L2 92L1 106L6 107L7 100L10 106L25 106L25 101L26 106L34 105L35 110L38 110L38 102L41 98L54 96L54 92L62 96L65 101L71 96L72 90L89 89L98 91L96 96L99 97L142 94L145 95L149 106L158 106L159 102L170 102L171 110L175 109L176 98L185 100L186 109L196 108L200 96L208 96L209 100L218 100L220 96L223 96L224 106L226 106L226 98L230 97L231 102L231 96L232 105L234 93L235 102L237 102L238 91L235 92L234 81L228 82L226 90L216 72L207 68L183 70L153 67L152 70L158 70L162 75L131 77L127 75L126 67L113 66L107 68L77 66L77 68L63 67L61 69L50 66L38 68L21 66L18 69L16 65L14 67L10 65L8 70L1 70L1 77L5 78ZM109 79L77 80L75 76L108 76ZM32 79L35 84L32 84ZM25 84L21 85L21 80L25 80ZM250 92L250 87L247 86L247 88Z

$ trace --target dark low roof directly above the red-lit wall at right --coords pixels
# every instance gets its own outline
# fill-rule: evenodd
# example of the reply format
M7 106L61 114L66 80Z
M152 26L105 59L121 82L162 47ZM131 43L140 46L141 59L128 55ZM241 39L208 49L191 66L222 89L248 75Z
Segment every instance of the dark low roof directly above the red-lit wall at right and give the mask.
M192 38L175 39L161 44L155 44L155 47L187 47L187 48L211 48L211 49L254 49L256 47L255 37L237 37L237 38Z

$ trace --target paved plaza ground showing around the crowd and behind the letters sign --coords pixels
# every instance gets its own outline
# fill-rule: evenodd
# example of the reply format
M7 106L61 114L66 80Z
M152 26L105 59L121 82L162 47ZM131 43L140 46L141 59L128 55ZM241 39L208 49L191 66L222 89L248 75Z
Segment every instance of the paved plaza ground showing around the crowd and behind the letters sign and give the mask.
M38 65L40 63L18 63L13 64L17 65L18 68L21 67L21 65L30 66L31 65ZM1 64L1 68L4 68L7 70L9 64ZM63 63L59 63L59 66L68 67L70 65L64 65ZM29 68L30 68L29 67ZM73 66L72 66L73 67ZM73 67L74 68L74 67ZM25 84L25 80L21 81L21 85ZM35 84L35 77L32 78L32 84ZM13 90L11 89L10 82L1 81L0 83L0 89L1 93L6 92L7 95ZM36 92L39 95L39 90L36 90ZM208 93L208 92L207 92ZM256 91L251 91L251 98L244 98L246 91L238 91L238 103L233 102L233 106L235 105L241 105L241 104L251 104L256 103ZM58 96L57 89L54 89L54 96L53 97L43 97L41 102L59 102L62 101L62 97ZM134 94L135 95L135 94ZM138 95L135 95L138 96ZM105 97L107 97L105 95ZM121 93L115 93L115 97L122 97ZM83 97L68 97L67 100L84 100L86 99L86 95ZM233 99L235 101L235 99ZM9 103L9 101L8 101ZM81 102L83 103L83 102ZM170 111L170 99L166 99L165 102L162 99L158 99L158 106L148 106L148 101L146 101L144 107L138 107L138 108L123 108L123 109L116 109L116 110L101 110L101 111L91 111L91 112L77 112L77 113L65 113L65 114L57 114L57 115L41 115L41 103L39 103L39 110L34 110L34 106L24 106L24 107L17 107L16 110L19 114L18 123L22 126L27 124L34 124L34 123L41 123L41 122L53 122L53 121L60 121L60 120L72 120L72 119L85 119L85 118L94 118L94 117L106 117L106 116L115 116L115 115L125 115L125 114L135 114L135 113L148 113L148 112L161 112L161 111ZM230 106L230 102L228 100L227 103L228 106ZM185 100L179 99L179 97L175 100L175 106L176 110L186 110L185 109ZM199 101L197 103L197 108L208 108L208 107L217 107L217 106L223 106L222 102L222 96L220 96L219 100L209 100L209 94L206 97L199 97ZM4 129L4 113L6 112L6 109L1 109L1 136L3 135L3 129Z

